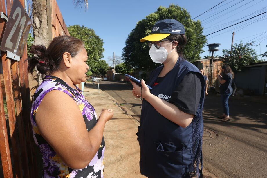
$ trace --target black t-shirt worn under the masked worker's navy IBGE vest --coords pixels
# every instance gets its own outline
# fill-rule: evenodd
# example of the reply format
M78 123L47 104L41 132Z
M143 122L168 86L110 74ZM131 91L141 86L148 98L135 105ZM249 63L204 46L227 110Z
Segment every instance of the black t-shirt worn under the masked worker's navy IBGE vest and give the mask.
M200 77L203 77L200 73L188 73L172 92L169 102L184 113L196 115L201 97ZM153 85L158 85L164 78L158 77Z

